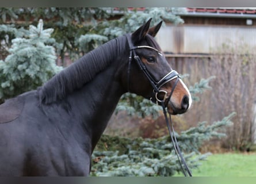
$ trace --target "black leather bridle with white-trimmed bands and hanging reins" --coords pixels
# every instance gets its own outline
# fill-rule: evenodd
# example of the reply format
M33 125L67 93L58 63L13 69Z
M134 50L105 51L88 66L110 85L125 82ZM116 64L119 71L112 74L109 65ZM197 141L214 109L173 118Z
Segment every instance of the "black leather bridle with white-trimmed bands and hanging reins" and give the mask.
M173 91L175 89L175 87L177 86L177 83L180 79L179 74L177 71L175 70L171 70L168 74L166 74L165 76L163 76L162 79L160 79L158 82L155 81L155 79L151 76L150 72L148 72L146 66L144 65L144 63L142 62L142 60L140 60L140 57L136 54L135 50L136 49L142 49L142 48L146 48L146 49L152 49L156 52L158 52L160 55L162 55L162 53L160 51L158 51L158 49L155 49L153 47L147 46L147 45L142 45L142 46L134 46L132 43L132 39L131 39L131 34L125 34L125 36L127 37L127 41L129 44L129 62L128 62L128 91L129 91L129 75L130 75L130 71L131 71L131 62L132 59L134 59L137 63L137 65L139 66L140 70L143 71L144 75L147 77L148 81L150 82L151 86L153 87L153 91L152 91L152 97L150 98L150 100L152 102L155 102L158 105L161 105L163 108L163 113L165 114L165 120L166 120L166 124L167 124L167 128L171 137L171 141L173 143L173 147L175 150L175 153L177 155L179 164L181 166L182 172L185 175L185 177L189 176L192 177L192 174L189 170L188 165L185 162L184 157L181 154L181 150L179 148L178 145L178 141L176 139L175 133L174 133L174 128L173 128L173 122L171 121L171 115L169 114L169 118L170 118L170 123L169 120L167 118L167 112L166 112L166 103L169 102L171 95L173 94ZM167 91L165 90L161 90L161 87L163 85L165 85L167 82L173 81L174 79L174 85L171 89L171 93L169 95L169 97L167 96ZM159 94L163 93L164 96L162 99L159 98ZM171 127L170 127L171 124ZM183 166L182 166L183 164ZM185 167L185 168L184 168ZM188 175L187 175L188 174Z

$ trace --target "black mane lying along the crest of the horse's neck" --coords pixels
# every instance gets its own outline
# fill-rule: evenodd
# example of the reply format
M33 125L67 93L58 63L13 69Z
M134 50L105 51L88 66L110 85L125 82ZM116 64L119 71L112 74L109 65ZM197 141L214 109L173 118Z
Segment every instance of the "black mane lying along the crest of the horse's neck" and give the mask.
M81 88L125 49L125 37L110 40L82 56L38 89L40 103L51 104Z

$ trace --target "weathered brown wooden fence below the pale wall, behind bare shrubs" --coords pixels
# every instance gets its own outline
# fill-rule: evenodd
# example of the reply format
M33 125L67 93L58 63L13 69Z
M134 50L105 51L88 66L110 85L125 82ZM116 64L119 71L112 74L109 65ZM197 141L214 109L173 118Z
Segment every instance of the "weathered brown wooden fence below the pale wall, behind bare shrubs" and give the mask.
M217 61L213 55L166 55L166 57L174 70L177 70L180 74L189 74L189 77L184 79L188 86L193 86L194 83L199 82L202 78L207 79L210 76L216 76L209 83L212 90L198 94L200 101L194 102L189 112L183 115L185 120L188 120L190 126L196 126L198 122L202 121L207 121L211 124L213 121L219 121L228 116L231 112L238 111L236 113L239 116L235 118L235 124L241 126L241 131L245 131L243 130L244 124L254 124L249 127L244 125L244 127L247 126L248 129L251 129L251 132L248 133L251 133L252 140L256 141L256 124L254 120L256 112L255 110L253 112L254 106L252 107L252 104L249 108L246 106L246 104L256 102L256 93L252 93L256 90L256 64L251 64L254 69L247 69L246 67L239 69L240 66L236 66L238 67L236 70L241 70L239 72L227 67L229 66L227 64L228 60L225 62L225 67L221 66L224 61ZM237 61L234 60L234 62ZM255 63L256 60L251 62ZM228 70L234 70L234 72ZM245 73L243 73L244 71ZM246 74L247 71L248 74ZM227 80L233 81L234 85L236 83L237 89L234 89L234 85L228 85ZM228 87L230 87L230 90ZM254 89L251 89L251 87ZM231 90L234 90L234 93L237 94L233 95ZM226 96L223 93L226 93ZM225 102L226 99L227 101Z

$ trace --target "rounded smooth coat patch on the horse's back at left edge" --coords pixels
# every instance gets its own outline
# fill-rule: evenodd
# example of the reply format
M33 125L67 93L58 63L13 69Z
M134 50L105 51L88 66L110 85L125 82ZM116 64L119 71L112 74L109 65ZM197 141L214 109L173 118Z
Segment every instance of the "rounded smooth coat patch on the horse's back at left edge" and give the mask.
M18 96L7 99L0 105L0 123L6 123L18 118L24 107L24 98Z

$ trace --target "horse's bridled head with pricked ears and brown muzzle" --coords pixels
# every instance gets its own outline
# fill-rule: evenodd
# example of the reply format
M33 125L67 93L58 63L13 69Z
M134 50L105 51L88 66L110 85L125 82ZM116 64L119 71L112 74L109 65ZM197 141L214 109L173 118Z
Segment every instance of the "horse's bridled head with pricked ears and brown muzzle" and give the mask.
M185 113L192 104L188 87L167 62L154 36L162 22L150 28L151 19L127 34L130 48L128 90L154 102L164 102L170 114Z

